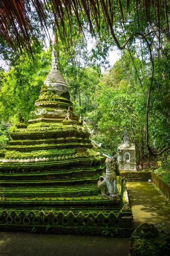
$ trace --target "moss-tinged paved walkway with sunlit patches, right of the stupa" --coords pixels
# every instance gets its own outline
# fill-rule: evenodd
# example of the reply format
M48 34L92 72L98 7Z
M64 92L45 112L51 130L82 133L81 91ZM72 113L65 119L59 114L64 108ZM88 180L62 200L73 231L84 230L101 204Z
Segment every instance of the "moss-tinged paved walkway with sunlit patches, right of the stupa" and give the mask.
M144 222L155 226L164 223L162 227L170 233L170 204L152 183L127 182L127 191L135 228Z

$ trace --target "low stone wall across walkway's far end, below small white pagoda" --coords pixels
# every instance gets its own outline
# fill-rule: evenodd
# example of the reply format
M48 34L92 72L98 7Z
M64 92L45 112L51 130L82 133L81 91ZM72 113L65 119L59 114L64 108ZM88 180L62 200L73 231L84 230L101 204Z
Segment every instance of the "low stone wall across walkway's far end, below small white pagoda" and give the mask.
M147 182L151 179L151 172L120 172L121 177L125 177L127 181L143 181Z

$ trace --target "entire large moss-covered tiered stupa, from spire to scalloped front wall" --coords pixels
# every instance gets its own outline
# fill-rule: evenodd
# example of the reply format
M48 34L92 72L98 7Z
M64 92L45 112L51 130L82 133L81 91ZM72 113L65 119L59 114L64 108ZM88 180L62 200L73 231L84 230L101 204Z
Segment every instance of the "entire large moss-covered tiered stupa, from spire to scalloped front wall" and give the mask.
M122 199L100 195L105 157L74 113L55 50L35 113L0 151L1 230L129 236L124 182L117 177Z

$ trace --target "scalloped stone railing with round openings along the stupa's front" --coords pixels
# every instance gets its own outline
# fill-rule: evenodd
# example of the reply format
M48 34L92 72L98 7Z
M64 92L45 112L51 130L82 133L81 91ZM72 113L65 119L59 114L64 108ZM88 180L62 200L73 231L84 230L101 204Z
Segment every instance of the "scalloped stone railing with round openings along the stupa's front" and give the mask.
M54 226L98 226L98 227L119 227L119 228L132 228L132 213L130 208L122 209L119 215L116 216L113 212L110 212L106 217L102 212L99 212L95 217L93 213L84 215L82 212L76 216L72 211L69 211L67 215L62 211L57 215L53 211L45 214L44 211L40 211L35 214L31 211L26 214L23 210L20 214L14 210L9 214L8 210L4 210L0 215L0 224L20 224L20 225L54 225Z

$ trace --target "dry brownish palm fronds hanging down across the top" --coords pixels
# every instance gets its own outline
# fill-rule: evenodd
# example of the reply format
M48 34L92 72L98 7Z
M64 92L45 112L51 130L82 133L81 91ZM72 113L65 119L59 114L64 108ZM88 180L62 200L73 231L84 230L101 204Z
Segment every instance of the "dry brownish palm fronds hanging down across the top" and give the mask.
M85 26L92 34L100 32L100 17L105 19L108 33L111 32L114 41L120 48L118 38L113 29L115 9L119 6L119 13L122 22L125 21L127 13L145 12L147 22L150 22L150 8L154 8L157 16L157 26L160 32L160 10L165 12L166 29L169 33L167 18L167 0L1 0L0 1L0 36L3 37L8 45L14 50L26 48L31 51L30 34L34 35L31 26L31 12L37 12L37 17L41 28L48 31L47 13L54 16L57 30L64 38L68 37L65 29L65 18L69 20L69 33L72 33L72 20L77 20L79 31L83 31ZM156 17L155 16L155 17ZM139 22L139 20L138 20ZM152 22L152 20L151 20Z

